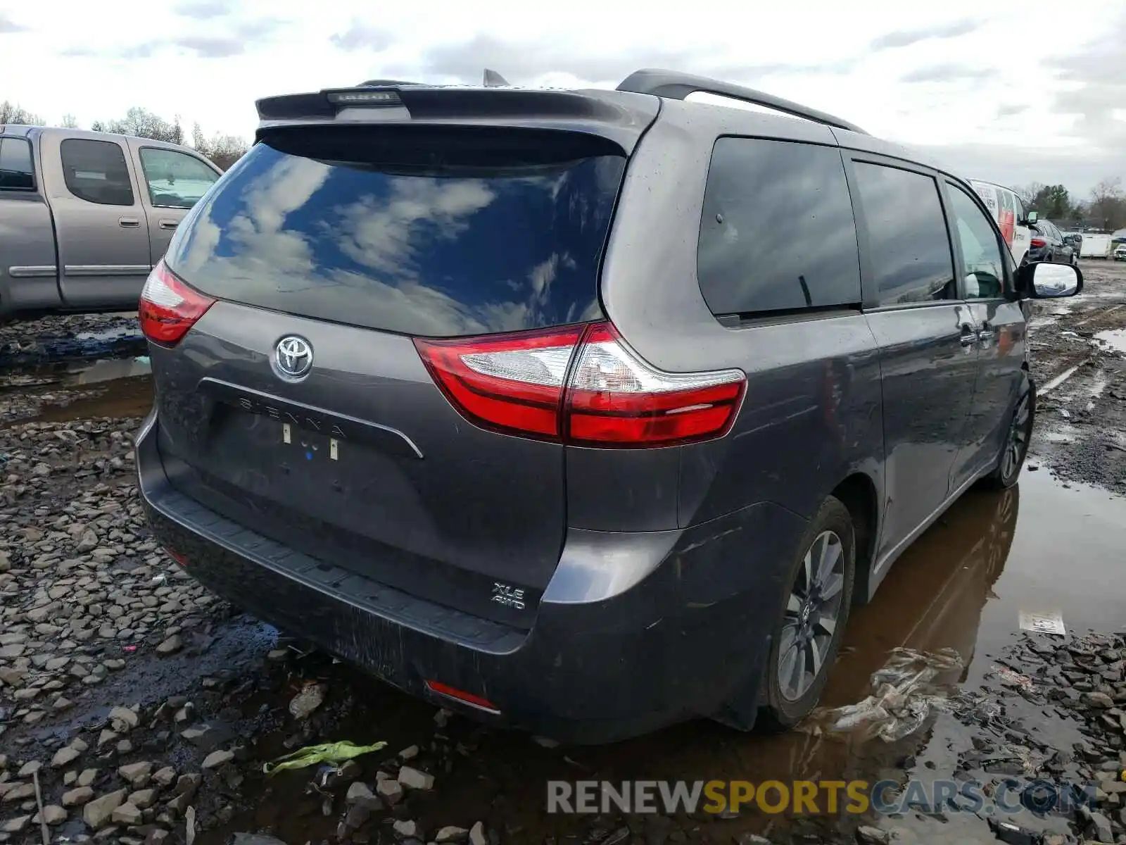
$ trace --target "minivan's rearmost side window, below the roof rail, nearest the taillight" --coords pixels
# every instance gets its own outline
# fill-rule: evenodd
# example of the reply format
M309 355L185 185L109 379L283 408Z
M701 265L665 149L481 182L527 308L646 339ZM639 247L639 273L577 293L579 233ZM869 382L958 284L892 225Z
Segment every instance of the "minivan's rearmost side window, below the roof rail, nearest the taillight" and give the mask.
M717 140L697 274L715 314L860 302L856 223L840 152Z

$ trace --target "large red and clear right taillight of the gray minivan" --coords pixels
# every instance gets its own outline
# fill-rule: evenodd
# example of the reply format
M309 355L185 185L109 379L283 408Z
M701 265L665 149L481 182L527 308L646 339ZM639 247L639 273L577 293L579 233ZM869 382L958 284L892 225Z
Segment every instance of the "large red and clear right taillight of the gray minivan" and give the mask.
M574 445L628 448L722 437L747 386L741 370L656 370L608 322L414 345L470 421Z

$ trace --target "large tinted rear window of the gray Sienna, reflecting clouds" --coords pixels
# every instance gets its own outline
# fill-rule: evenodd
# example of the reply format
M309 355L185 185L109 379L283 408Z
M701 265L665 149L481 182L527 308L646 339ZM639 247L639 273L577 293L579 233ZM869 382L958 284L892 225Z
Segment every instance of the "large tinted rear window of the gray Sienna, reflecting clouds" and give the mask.
M168 264L217 297L408 335L595 319L614 149L517 130L278 133L195 206Z

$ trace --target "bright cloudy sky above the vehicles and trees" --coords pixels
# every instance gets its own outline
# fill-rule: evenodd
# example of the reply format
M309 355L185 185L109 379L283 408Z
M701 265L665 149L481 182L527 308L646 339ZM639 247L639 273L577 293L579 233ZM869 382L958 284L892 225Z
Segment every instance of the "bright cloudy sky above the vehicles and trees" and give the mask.
M82 125L133 105L250 136L258 97L392 77L614 87L722 77L933 148L964 176L1126 183L1126 0L0 0L0 100ZM644 11L640 11L644 9Z

